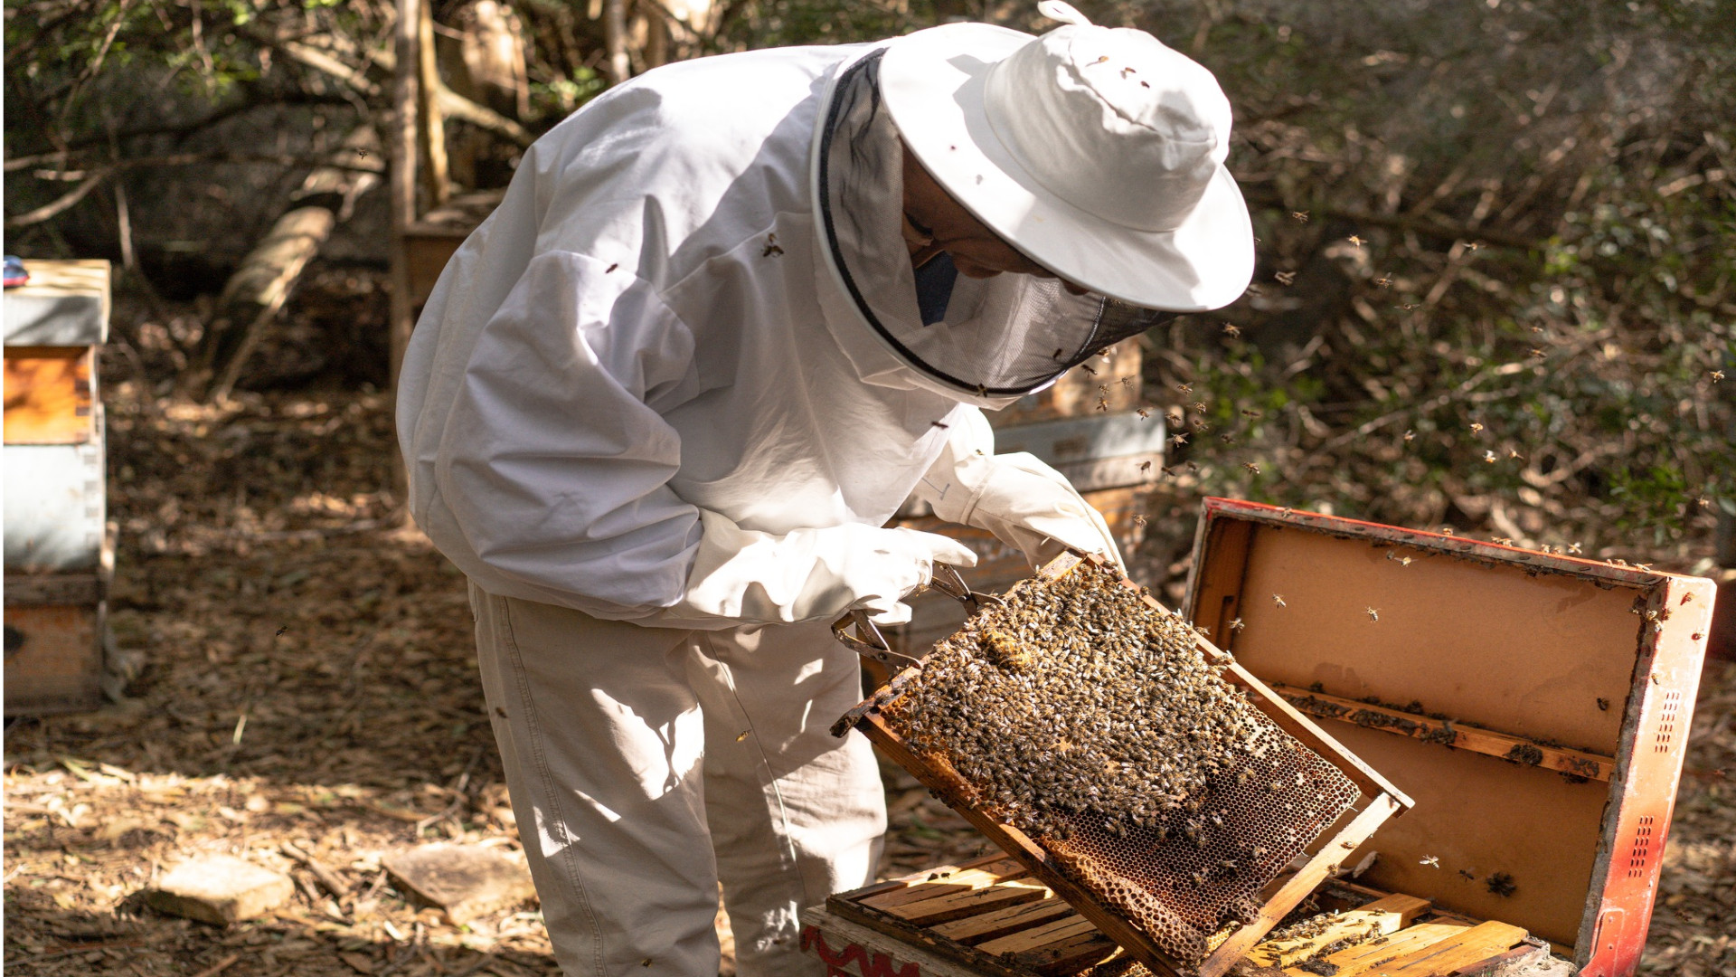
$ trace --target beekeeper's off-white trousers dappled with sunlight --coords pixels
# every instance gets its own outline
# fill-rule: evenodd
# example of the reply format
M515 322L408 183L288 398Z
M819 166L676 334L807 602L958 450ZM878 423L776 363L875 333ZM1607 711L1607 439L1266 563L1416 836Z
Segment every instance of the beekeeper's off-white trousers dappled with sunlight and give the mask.
M797 911L871 881L885 796L825 624L677 631L470 584L495 741L566 977L809 977Z

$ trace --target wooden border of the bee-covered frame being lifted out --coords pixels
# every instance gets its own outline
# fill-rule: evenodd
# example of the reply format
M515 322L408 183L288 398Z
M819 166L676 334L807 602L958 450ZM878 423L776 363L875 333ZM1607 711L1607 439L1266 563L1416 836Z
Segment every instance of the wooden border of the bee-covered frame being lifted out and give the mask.
M1043 565L1043 568L1036 572L1036 577L1045 582L1059 581L1085 562L1090 562L1095 567L1106 567L1106 562L1095 555L1062 553ZM1147 605L1167 612L1167 608L1153 600L1151 595L1142 593L1139 584L1123 577L1121 586L1141 591L1141 598ZM1326 841L1326 845L1323 845L1305 866L1279 885L1279 888L1260 906L1253 921L1229 934L1229 937L1212 949L1212 953L1208 953L1198 967L1187 967L1158 949L1158 946L1130 920L1097 901L1095 895L1059 871L1059 867L1052 864L1054 857L1042 845L1024 834L1024 831L1012 824L995 821L988 814L972 807L967 800L970 796L969 784L953 768L953 765L946 761L946 758L927 758L918 754L896 730L892 730L892 727L885 723L880 714L882 708L904 694L904 687L920 675L922 669L918 666L910 666L899 671L873 695L838 718L838 721L832 727L832 734L845 735L851 728L861 730L863 735L880 748L889 760L908 770L913 777L917 777L917 781L934 791L946 803L946 807L963 815L963 819L988 836L990 841L1017 859L1019 864L1029 869L1033 876L1066 899L1104 935L1118 942L1121 949L1149 967L1154 974L1168 977L1222 977L1231 967L1246 956L1246 953L1253 949L1253 946L1260 942L1260 939L1271 932L1279 920L1295 909L1295 906L1314 890L1314 887L1332 876L1344 864L1344 861L1363 845L1363 841L1385 824L1389 817L1404 814L1410 810L1413 801L1404 794L1404 791L1392 786L1385 777L1363 763L1361 758L1340 746L1338 741L1332 739L1325 730L1314 725L1312 720L1290 706L1290 702L1281 699L1264 681L1236 664L1231 655L1220 652L1205 636L1198 636L1198 645L1207 661L1224 669L1224 680L1243 688L1255 708L1266 713L1266 716L1271 718L1279 728L1337 767L1345 777L1351 779L1351 782L1358 786L1363 796L1368 798L1368 803L1363 805L1356 817L1340 827L1338 833L1333 834L1333 838Z

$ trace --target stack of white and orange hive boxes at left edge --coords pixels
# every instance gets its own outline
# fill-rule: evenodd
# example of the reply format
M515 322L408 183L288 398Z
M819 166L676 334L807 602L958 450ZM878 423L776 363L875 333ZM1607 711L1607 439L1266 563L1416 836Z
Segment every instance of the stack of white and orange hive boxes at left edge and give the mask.
M33 261L5 311L5 711L102 699L106 261Z

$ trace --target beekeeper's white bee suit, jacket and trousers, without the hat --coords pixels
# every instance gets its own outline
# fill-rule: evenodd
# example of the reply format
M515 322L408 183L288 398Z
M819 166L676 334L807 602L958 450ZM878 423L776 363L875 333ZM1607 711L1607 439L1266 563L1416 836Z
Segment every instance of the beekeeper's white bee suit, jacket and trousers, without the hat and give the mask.
M986 422L868 332L819 254L816 118L863 50L611 89L526 151L404 356L411 511L472 581L569 975L715 974L719 878L745 977L818 972L795 911L866 883L885 826L866 741L826 732L861 692L826 624L892 617L934 560L974 562L880 527L925 473L944 495L943 454L991 455ZM908 261L877 287L917 315ZM1088 518L1052 522L1102 548Z

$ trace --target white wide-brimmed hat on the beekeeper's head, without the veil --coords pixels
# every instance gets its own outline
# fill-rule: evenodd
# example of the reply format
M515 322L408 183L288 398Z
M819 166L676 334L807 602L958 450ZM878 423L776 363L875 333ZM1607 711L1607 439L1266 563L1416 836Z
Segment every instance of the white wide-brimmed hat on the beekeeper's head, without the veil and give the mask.
M1042 37L958 23L887 45L880 90L904 144L967 210L1061 278L1137 306L1227 306L1253 226L1224 167L1217 80L1146 31L1055 0Z

